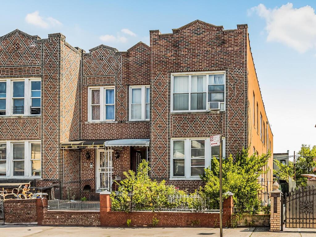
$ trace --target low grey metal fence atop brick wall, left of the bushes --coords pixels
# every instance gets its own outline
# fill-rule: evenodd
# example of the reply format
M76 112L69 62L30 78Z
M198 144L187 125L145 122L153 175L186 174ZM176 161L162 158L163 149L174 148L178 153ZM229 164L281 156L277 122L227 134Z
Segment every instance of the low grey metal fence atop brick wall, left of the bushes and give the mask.
M49 210L100 210L99 201L48 200Z

